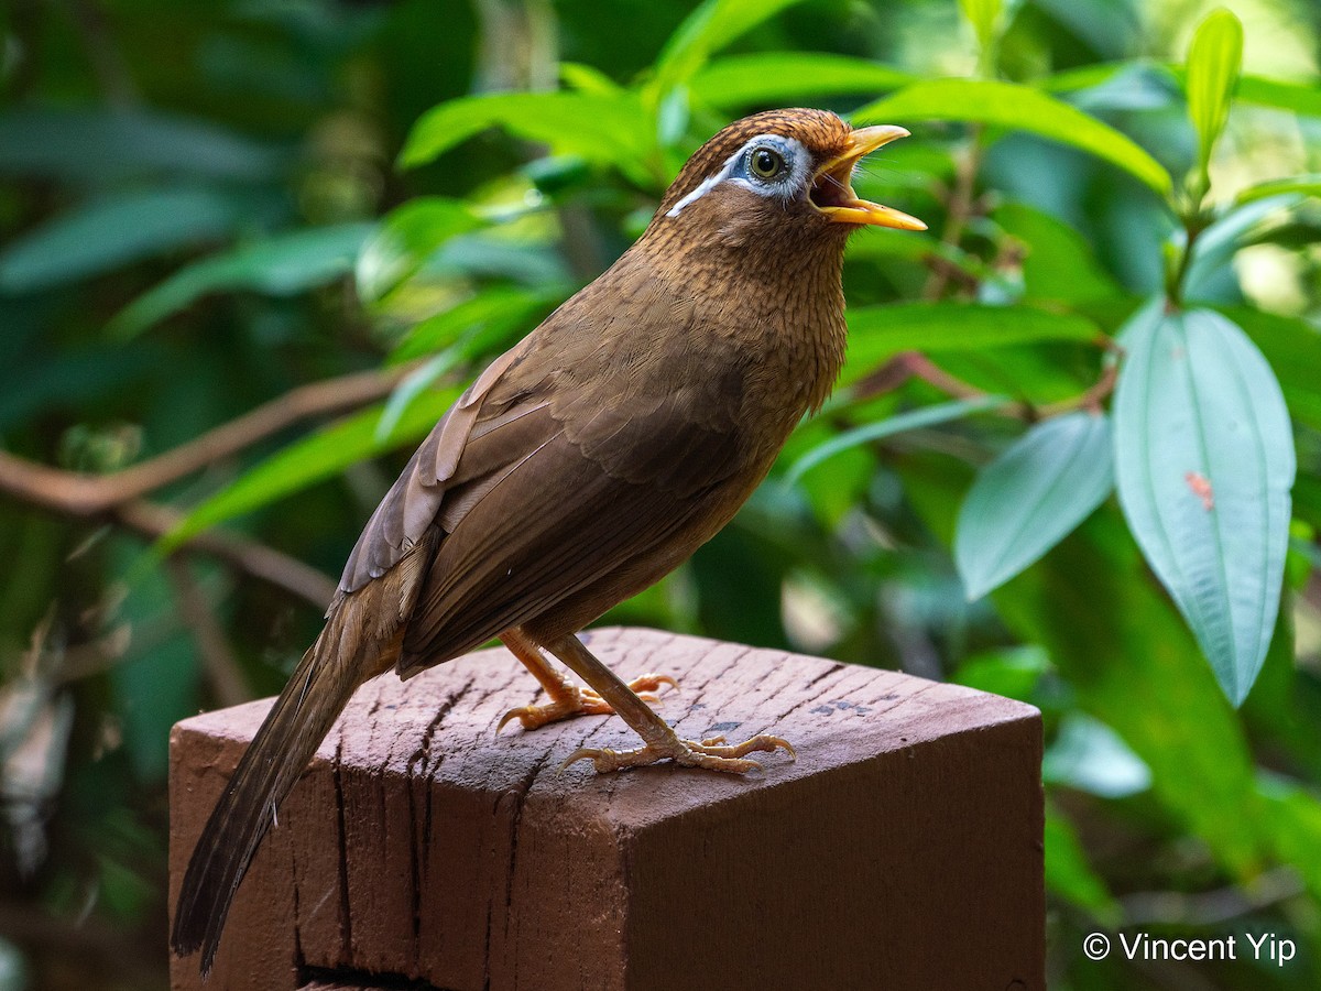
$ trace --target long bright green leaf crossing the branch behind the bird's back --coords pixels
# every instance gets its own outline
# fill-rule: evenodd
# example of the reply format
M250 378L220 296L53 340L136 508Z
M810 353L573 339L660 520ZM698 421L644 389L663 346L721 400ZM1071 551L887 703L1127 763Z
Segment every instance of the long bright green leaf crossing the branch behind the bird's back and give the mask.
M168 554L217 523L333 478L357 461L417 441L454 403L460 391L458 386L453 386L417 396L386 435L378 431L384 411L384 406L378 403L292 443L193 509L157 542L157 550Z

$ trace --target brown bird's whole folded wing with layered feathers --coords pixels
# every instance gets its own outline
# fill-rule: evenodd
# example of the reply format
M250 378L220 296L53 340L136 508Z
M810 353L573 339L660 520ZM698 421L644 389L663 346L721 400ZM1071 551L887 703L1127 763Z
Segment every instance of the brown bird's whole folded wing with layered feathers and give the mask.
M663 316L674 329L678 314ZM349 558L341 595L439 531L400 674L457 657L663 554L664 539L741 466L737 365L717 362L713 374L688 348L630 350L637 341L593 334L575 317L572 309L551 317L473 383Z

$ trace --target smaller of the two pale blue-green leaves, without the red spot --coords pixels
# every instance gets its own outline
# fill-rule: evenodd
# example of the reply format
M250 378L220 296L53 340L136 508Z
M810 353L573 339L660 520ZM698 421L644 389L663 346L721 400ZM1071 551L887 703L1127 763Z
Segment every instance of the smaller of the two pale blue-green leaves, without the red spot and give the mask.
M1038 423L978 473L954 560L970 600L999 588L1091 515L1114 488L1110 423L1085 412Z

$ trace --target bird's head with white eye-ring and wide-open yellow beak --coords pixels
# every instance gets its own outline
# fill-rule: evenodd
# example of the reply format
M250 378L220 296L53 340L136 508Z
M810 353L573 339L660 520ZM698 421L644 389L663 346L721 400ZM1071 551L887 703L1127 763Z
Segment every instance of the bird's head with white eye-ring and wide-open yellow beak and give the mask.
M820 110L773 110L736 120L699 148L670 186L650 231L694 246L843 244L863 226L926 230L922 221L859 200L851 178L902 127L853 128Z

